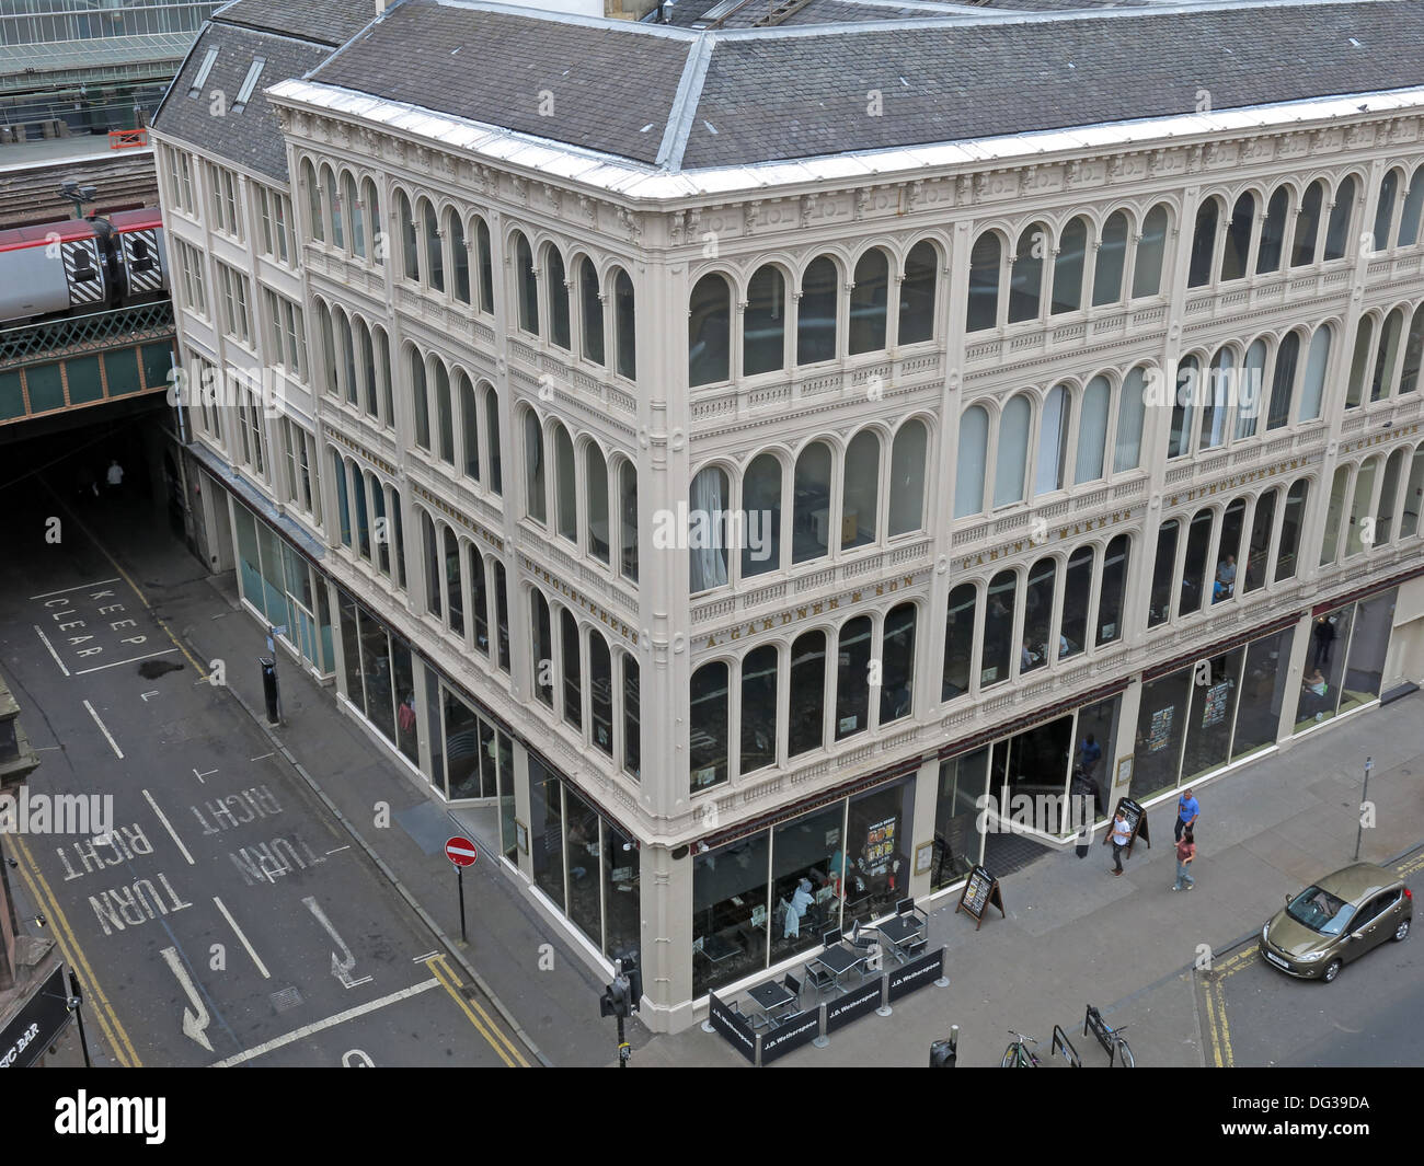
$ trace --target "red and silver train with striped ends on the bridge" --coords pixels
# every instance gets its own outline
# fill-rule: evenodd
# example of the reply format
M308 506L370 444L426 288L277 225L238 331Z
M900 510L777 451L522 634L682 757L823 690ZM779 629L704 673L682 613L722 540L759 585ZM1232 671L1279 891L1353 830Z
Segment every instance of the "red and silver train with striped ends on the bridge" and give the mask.
M0 231L0 329L161 300L169 286L157 206Z

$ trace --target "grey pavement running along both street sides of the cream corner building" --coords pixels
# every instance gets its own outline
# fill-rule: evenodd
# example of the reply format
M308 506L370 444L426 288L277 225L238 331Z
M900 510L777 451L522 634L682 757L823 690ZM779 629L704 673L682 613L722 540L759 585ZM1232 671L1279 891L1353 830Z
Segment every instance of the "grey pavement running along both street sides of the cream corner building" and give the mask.
M157 518L107 541L154 612L199 661L225 661L231 696L265 720L256 663L263 632L241 609L232 574L206 575ZM340 712L335 688L286 655L281 678L285 725L273 739L497 998L527 1045L545 1063L614 1063L612 1021L598 1018L601 977L493 857L488 816L449 812ZM1055 1024L1087 1066L1106 1065L1106 1054L1081 1036L1088 1004L1109 1024L1129 1026L1139 1066L1233 1063L1226 1017L1216 1015L1212 998L1213 968L1253 942L1286 893L1351 860L1367 753L1376 824L1363 831L1360 857L1400 858L1424 839L1424 693L1349 715L1198 783L1193 891L1171 890L1173 793L1148 803L1153 846L1139 844L1121 878L1109 873L1109 853L1095 836L1085 858L1071 849L1052 853L1004 880L1007 915L988 908L980 928L954 913L956 895L940 900L930 913L930 947L948 948L948 987L923 988L897 1001L890 1017L870 1014L833 1034L826 1048L803 1046L778 1065L923 1065L930 1041L951 1024L961 1029L963 1066L997 1065L1010 1028L1040 1039L1045 1065L1062 1065L1048 1056ZM380 803L392 812L389 826L379 824ZM466 874L467 942L459 940L454 871L429 841L440 817L450 833L468 833L487 851ZM419 829L402 824L422 819ZM634 1021L629 1041L632 1068L745 1065L722 1036L699 1026L654 1036Z

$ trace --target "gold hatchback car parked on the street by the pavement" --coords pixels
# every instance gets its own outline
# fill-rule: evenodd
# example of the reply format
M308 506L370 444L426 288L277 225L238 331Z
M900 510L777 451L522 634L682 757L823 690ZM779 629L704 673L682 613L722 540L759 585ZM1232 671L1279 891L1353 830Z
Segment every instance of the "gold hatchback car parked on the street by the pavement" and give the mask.
M1330 984L1344 964L1384 942L1408 938L1414 897L1404 880L1371 863L1329 874L1286 897L1260 930L1260 954L1274 968Z

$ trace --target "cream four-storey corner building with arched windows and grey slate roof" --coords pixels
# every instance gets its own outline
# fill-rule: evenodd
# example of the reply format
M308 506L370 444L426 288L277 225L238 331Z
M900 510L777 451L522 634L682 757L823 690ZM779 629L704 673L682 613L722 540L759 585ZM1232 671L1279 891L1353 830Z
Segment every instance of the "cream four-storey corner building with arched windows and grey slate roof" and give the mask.
M1041 7L236 0L157 120L212 564L655 1028L1424 673L1424 4Z

